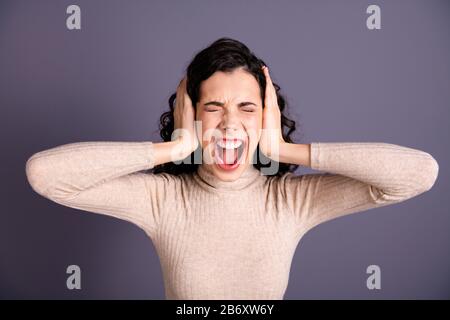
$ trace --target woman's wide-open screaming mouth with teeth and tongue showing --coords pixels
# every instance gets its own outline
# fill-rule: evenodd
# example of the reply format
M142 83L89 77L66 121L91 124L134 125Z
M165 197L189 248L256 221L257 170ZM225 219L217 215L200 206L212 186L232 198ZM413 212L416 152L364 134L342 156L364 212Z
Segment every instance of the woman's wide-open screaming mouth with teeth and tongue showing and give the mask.
M234 170L243 163L247 141L243 139L220 139L215 142L214 158L219 168Z

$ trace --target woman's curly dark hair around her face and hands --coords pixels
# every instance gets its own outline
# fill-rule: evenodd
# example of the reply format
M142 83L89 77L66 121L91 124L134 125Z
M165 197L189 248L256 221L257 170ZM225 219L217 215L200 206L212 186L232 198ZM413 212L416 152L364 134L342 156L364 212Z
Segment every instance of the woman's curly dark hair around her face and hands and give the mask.
M187 83L186 90L192 100L192 105L195 106L199 101L200 84L202 81L208 79L216 71L232 72L236 68L243 67L243 69L252 74L258 81L261 99L264 107L266 79L261 69L262 66L267 65L262 59L255 56L250 49L242 42L223 37L214 41L207 48L203 49L194 57L186 70ZM281 130L284 141L293 142L291 134L296 130L295 121L289 119L286 115L287 103L283 95L280 93L280 86L273 82L277 93L278 106L281 111ZM176 93L169 98L169 111L164 112L160 117L160 136L163 141L171 141L171 136L174 131L174 101ZM199 146L201 148L201 146ZM197 149L195 152L197 152ZM189 173L197 170L198 163L194 161L194 153L191 153L182 163L176 164L174 162L167 162L155 166L152 169L153 173L167 172L178 175L181 173ZM264 156L259 150L259 145L254 154L256 161L253 161L253 166L258 170L262 167L267 167L266 164L272 161ZM190 160L190 161L189 161ZM187 162L187 163L186 163ZM276 175L282 175L285 172L293 172L298 168L298 165L280 162L278 164L278 172Z

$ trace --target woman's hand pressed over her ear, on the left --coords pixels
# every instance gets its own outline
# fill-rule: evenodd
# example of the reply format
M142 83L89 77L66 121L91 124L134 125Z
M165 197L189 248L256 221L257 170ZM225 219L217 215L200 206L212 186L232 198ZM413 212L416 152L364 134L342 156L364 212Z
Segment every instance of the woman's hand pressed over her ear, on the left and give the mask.
M175 121L172 140L178 141L177 154L183 158L194 152L199 145L195 129L195 108L186 90L187 76L178 85L173 117Z

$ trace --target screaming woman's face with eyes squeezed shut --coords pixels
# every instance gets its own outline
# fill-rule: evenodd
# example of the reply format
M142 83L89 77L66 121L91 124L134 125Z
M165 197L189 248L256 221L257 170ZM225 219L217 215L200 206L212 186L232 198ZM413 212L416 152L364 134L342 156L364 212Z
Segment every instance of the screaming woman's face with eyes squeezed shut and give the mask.
M242 68L215 72L200 85L196 120L201 121L202 165L223 181L239 178L252 165L261 136L262 101L255 77Z

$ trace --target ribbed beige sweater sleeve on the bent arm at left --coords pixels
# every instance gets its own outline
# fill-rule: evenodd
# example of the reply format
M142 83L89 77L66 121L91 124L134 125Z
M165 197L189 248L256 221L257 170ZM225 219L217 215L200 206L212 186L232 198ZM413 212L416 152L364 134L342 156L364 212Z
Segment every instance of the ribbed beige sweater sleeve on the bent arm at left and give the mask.
M171 182L139 172L153 166L152 142L77 142L35 153L26 175L34 191L56 203L153 232Z

